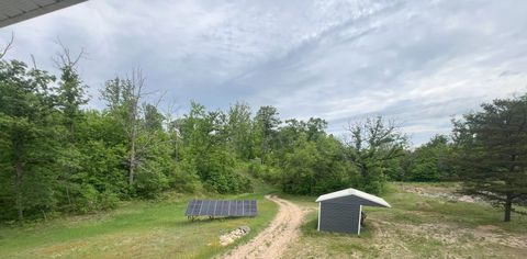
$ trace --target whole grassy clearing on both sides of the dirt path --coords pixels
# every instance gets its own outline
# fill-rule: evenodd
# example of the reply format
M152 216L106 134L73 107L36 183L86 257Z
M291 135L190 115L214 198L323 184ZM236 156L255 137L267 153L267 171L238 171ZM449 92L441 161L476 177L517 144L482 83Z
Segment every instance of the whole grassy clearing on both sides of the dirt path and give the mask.
M298 241L285 258L525 258L527 217L503 213L485 203L469 203L423 193L453 192L456 184L392 183L384 199L392 209L365 207L360 236L316 230L313 196L281 195L309 211ZM209 258L244 243L264 229L277 205L272 192L222 198L258 199L259 216L189 222L190 196L175 194L160 202L123 203L117 210L47 223L0 226L0 258ZM227 247L218 236L238 226L253 232ZM272 241L272 240L270 240Z

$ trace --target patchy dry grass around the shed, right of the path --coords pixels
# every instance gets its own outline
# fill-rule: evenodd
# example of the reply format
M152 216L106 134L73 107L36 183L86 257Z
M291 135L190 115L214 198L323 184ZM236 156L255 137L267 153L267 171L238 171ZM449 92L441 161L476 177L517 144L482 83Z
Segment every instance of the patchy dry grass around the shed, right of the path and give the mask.
M285 258L525 258L527 217L484 203L427 198L403 190L453 192L456 184L392 183L384 199L392 209L365 207L359 237L316 230L315 198L289 196L310 210L302 235Z

